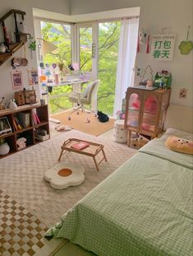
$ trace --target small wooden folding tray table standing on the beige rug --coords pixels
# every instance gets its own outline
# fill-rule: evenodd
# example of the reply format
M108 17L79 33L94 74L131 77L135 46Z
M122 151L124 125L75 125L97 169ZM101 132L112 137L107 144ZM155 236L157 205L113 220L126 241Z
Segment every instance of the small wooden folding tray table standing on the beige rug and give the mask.
M85 147L84 149L81 149L81 150L77 150L75 148L72 148L71 146L72 145L75 145L76 143L78 142L87 142L89 143L89 147ZM107 161L107 158L105 156L105 153L103 151L103 145L102 144L98 144L98 143L94 143L94 142L88 142L88 141L84 141L84 140L80 140L80 139L77 139L77 138L70 138L68 139L66 142L63 142L63 145L61 147L62 151L60 153L60 156L58 158L58 161L61 160L61 157L67 153L67 151L71 151L71 152L75 152L75 153L78 153L78 154L82 154L82 155L85 155L85 156L91 156L93 157L93 160L94 160L94 165L96 166L96 170L99 171L99 164L105 160ZM99 161L99 163L97 163L96 161L96 156L99 154L99 152L102 152L103 154L103 158L101 161Z

